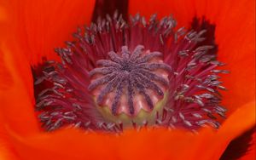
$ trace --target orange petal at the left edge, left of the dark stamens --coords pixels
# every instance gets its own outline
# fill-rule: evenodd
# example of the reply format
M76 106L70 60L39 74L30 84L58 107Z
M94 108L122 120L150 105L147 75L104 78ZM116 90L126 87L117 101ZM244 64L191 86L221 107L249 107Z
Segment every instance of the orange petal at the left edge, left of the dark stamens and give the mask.
M15 46L0 41L0 114L2 125L19 134L38 131L32 95L32 74L29 63ZM15 52L17 51L17 52ZM3 77L3 78L2 78Z

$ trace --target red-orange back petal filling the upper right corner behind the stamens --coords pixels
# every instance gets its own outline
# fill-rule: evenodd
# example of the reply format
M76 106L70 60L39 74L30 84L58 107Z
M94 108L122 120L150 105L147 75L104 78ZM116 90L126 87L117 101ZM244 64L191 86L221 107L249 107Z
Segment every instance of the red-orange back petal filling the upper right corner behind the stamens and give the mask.
M216 42L219 60L227 63L224 69L231 73L224 76L224 106L231 111L255 100L255 1L227 0L130 0L131 14L149 16L158 13L173 14L179 26L187 26L193 17L206 17L216 24Z

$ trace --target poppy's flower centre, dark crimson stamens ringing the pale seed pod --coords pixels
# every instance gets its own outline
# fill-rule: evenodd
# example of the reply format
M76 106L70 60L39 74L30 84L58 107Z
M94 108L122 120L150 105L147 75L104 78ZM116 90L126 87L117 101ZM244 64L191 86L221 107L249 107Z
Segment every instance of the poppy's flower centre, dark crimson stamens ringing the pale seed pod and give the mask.
M148 22L139 14L126 23L115 13L78 29L62 63L48 61L36 86L40 120L47 130L72 124L121 131L147 125L199 129L225 117L220 106L217 54L199 45L206 30L176 29L172 16ZM50 86L50 87L49 87Z

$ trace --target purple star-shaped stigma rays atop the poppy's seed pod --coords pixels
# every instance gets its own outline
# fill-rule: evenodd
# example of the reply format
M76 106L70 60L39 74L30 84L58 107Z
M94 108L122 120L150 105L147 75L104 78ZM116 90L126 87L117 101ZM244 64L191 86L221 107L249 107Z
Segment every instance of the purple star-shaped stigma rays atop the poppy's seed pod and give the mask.
M169 82L167 77L163 77L157 71L170 72L172 70L171 66L161 60L155 60L161 55L160 52L144 51L143 45L137 45L131 54L128 47L123 46L120 53L109 52L109 60L98 60L96 64L101 67L91 70L89 75L90 77L94 77L96 74L102 76L92 80L88 87L92 91L104 85L96 94L97 104L102 104L107 94L113 92L111 112L113 115L117 115L121 96L125 94L126 110L128 114L134 116L136 114L134 98L140 94L146 101L148 110L152 110L154 102L147 90L152 90L162 98L163 89L168 86Z

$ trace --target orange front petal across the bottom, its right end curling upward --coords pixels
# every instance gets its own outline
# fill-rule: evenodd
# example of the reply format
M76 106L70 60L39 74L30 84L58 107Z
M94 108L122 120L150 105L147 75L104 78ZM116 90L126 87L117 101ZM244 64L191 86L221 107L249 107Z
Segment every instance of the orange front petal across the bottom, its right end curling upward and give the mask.
M126 130L124 134L62 129L22 137L9 130L15 151L23 159L218 159L230 140L255 125L253 103L242 106L220 130L199 134L182 130ZM242 118L247 117L245 121ZM237 125L234 125L236 123ZM72 147L68 147L68 146Z

